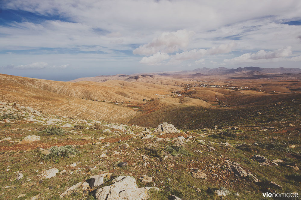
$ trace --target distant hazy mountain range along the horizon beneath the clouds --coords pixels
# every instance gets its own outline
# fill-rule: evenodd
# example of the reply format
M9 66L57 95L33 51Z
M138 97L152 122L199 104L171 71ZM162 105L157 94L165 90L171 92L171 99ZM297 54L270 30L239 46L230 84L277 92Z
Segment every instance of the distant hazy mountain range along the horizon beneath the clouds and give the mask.
M85 77L69 82L79 81L94 81L105 82L108 80L124 80L128 82L151 82L163 85L168 85L169 82L173 82L168 78L200 78L203 76L219 76L225 78L234 79L260 79L260 78L276 78L276 77L289 77L296 76L301 77L301 69L299 68L262 68L262 67L238 67L237 69L228 69L225 67L218 68L197 68L190 71L178 71L178 72L164 72L164 73L140 73L133 75L118 74L113 76L95 76Z

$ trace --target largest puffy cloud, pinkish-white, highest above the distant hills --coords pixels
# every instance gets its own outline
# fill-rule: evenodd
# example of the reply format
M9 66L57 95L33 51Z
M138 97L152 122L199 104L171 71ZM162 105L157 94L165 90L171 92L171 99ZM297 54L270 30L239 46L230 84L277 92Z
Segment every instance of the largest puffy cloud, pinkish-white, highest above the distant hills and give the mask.
M176 32L163 32L150 43L144 44L133 51L133 54L152 55L158 51L172 53L179 49L186 49L193 31L178 30Z

